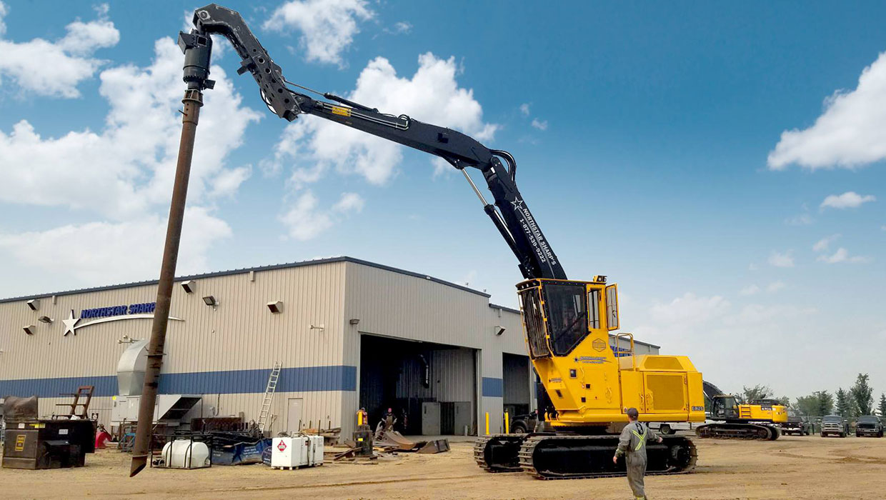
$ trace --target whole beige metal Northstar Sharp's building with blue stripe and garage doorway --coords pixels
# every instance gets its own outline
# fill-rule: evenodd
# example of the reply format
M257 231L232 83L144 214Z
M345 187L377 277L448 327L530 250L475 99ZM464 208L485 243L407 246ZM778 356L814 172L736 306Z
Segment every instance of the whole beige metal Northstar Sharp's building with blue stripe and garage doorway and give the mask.
M373 423L387 407L405 412L408 434L483 432L486 412L500 432L505 409L535 407L520 313L478 290L347 257L176 283L159 392L202 396L190 416L257 419L276 362L273 433L349 435L361 406ZM107 424L120 354L150 336L156 285L0 300L0 397L40 396L50 415L59 394L93 385L90 412Z

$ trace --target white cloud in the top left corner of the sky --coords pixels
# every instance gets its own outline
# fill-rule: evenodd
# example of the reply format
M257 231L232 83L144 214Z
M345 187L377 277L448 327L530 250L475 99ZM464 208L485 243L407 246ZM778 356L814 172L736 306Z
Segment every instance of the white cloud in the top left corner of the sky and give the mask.
M0 3L0 36L5 34L8 9ZM23 92L40 96L78 97L77 85L90 78L104 64L91 58L93 52L113 47L120 32L98 10L99 19L76 20L66 26L67 34L56 42L35 38L30 42L0 39L0 77L9 77Z

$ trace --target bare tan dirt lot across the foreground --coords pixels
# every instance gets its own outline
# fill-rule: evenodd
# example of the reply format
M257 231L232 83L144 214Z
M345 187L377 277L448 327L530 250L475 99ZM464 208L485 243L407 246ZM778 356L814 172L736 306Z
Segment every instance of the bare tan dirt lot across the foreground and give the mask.
M647 478L664 498L886 497L886 439L782 437L776 442L696 440L696 472ZM0 469L3 498L595 498L624 499L624 478L538 481L481 472L470 442L439 455L400 455L376 465L326 464L299 471L265 465L195 471L146 469L128 479L128 455L100 450L79 469Z

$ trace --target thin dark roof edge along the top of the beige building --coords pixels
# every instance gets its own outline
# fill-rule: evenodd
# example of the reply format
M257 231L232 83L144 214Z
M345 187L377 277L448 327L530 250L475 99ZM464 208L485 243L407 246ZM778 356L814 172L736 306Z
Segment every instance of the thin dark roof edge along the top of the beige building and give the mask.
M414 276L416 278L421 278L423 280L434 281L435 283L439 283L441 285L446 285L447 287L458 288L460 290L470 292L472 294L476 294L478 296L485 296L489 298L490 295L481 292L479 290L475 290L474 288L464 287L462 285L458 285L451 281L440 280L439 278L434 278L432 276L428 276L427 274L422 273L413 273L412 271L406 271L405 269L400 269L397 267L391 267L390 265L377 264L375 262L369 262L368 260L361 260L359 258L353 257L332 257L332 258L317 258L314 260L303 260L299 262L289 262L285 264L273 264L273 265L260 265L257 267L244 267L242 269L230 269L228 271L216 271L214 273L202 273L202 274L190 274L188 276L178 276L175 278L175 281L184 281L184 280L198 280L201 278L215 278L217 276L229 276L230 274L244 274L251 272L261 272L261 271L274 271L276 269L289 269L291 267L302 267L306 265L321 265L321 264L330 264L334 262L351 262L353 264L360 265L368 265L369 267L375 267L377 269L384 269L385 271L390 271L392 273L400 273L406 274L407 276ZM35 294L29 296L14 296L10 298L0 299L0 304L4 304L7 302L17 302L20 300L30 300L32 298L43 298L48 296L66 296L66 295L74 295L81 294L87 292L100 292L105 290L113 290L118 288L132 288L132 287L144 287L145 285L156 285L158 280L148 280L148 281L133 281L131 283L120 283L118 285L107 285L104 287L92 287L92 288L77 288L73 290L64 290L60 292L51 292L45 294ZM501 307L501 306L499 306ZM511 310L514 311L514 310ZM517 311L519 313L519 311Z

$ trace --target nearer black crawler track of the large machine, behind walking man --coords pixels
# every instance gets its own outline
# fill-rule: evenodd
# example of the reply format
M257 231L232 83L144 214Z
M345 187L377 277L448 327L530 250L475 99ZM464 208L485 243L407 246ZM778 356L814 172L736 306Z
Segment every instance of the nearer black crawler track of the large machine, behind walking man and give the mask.
M648 442L647 474L690 473L696 445L685 436ZM612 463L618 435L534 435L520 448L520 466L536 479L583 479L626 475L624 460Z

